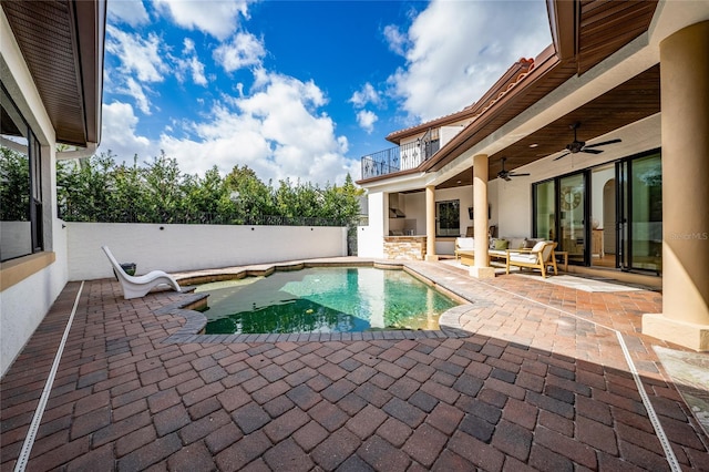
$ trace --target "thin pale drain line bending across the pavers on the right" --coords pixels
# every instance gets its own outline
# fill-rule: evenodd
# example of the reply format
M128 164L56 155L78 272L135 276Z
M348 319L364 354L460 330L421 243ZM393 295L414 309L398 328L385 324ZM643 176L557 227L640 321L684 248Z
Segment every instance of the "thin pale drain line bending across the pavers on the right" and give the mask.
M586 318L579 317L579 316L577 316L577 315L575 315L573 312L563 310L561 308L556 308L556 307L553 307L551 305L545 305L545 304L543 304L541 301L537 301L537 300L534 300L532 298L524 297L524 296L522 296L520 294L515 294L515 293L506 290L504 288L496 287L494 285L486 284L486 283L481 281L481 280L474 280L474 281L476 281L479 284L482 284L482 285L485 285L485 286L487 286L490 288L493 288L495 290L504 291L505 294L510 294L513 297L522 298L523 300L531 301L531 302L536 304L536 305L542 305L545 308L551 308L551 309L556 310L556 311L558 311L561 314L564 314L564 315L567 315L567 316L571 316L573 318L580 319L580 320L584 320L584 321L587 321L587 322L590 322L590 324L593 324L595 326L599 326L599 327L602 327L604 329L608 329L608 330L615 332L616 337L618 338L618 343L620 345L620 349L623 350L623 356L625 357L625 361L627 362L628 368L630 369L630 373L633 374L633 379L635 380L635 384L636 384L636 387L638 389L638 393L640 394L640 400L643 400L643 404L645 406L645 409L647 410L647 414L648 414L648 418L650 420L650 423L653 423L653 428L655 429L655 434L657 435L657 439L659 440L660 444L662 445L662 450L665 451L665 459L667 460L667 463L669 464L669 468L670 468L670 470L672 472L680 472L681 471L681 466L679 465L679 462L677 461L677 456L675 455L675 451L672 450L672 447L669 443L669 440L667 439L667 434L665 433L665 429L662 428L662 424L660 423L659 419L657 418L657 413L655 412L655 408L653 407L653 403L650 402L650 399L648 398L647 392L645 391L645 387L643 386L643 381L640 380L640 374L638 373L638 370L635 367L635 362L633 362L633 358L630 357L630 351L628 350L628 347L625 343L625 339L623 339L623 334L620 331L618 331L615 328L609 328L607 326L604 326L604 325L602 325L599 322L592 321L592 320L588 320Z

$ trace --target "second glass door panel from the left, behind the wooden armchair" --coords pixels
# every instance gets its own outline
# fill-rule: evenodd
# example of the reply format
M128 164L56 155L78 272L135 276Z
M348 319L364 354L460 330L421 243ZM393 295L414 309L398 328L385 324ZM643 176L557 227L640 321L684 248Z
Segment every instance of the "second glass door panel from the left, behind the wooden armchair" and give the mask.
M584 174L559 178L559 247L568 252L568 260L585 263L586 224Z

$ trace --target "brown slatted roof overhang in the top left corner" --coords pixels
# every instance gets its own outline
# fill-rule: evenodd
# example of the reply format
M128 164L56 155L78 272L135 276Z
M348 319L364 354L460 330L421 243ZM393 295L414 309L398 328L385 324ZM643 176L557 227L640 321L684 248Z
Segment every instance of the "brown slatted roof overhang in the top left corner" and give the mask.
M99 143L106 0L10 0L2 11L56 142Z

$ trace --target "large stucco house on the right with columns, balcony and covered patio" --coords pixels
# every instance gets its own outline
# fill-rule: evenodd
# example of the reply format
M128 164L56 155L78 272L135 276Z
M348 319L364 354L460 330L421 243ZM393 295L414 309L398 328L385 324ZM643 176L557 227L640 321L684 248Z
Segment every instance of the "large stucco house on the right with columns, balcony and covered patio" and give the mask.
M491 228L555 240L572 271L661 286L644 334L709 350L709 2L547 10L548 48L362 157L359 255L436 260L467 234L485 278Z

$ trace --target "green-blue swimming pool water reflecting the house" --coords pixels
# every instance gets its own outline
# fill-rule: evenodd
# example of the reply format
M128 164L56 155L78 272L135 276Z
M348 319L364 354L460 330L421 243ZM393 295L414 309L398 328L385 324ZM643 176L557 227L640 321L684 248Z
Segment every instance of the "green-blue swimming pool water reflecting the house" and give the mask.
M206 334L439 329L459 305L403 270L308 268L201 285Z

